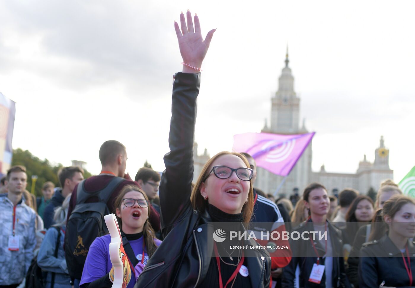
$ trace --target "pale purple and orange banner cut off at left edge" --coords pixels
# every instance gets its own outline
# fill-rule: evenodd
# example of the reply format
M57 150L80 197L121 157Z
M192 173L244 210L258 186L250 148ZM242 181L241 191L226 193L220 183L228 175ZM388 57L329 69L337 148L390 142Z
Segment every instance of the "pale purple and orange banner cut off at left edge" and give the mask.
M6 173L12 162L15 113L15 102L0 92L0 175Z

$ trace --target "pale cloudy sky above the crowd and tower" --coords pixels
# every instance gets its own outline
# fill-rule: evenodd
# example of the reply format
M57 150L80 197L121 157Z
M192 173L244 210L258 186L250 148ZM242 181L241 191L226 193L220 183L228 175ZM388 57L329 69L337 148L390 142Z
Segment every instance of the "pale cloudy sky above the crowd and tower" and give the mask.
M187 9L204 35L217 28L198 99L200 153L261 130L288 44L300 117L316 132L315 171L354 173L364 154L374 160L381 135L395 181L415 165L410 0L1 1L0 92L17 102L13 147L99 173L99 147L115 139L132 176L145 160L163 170L181 70L173 20Z

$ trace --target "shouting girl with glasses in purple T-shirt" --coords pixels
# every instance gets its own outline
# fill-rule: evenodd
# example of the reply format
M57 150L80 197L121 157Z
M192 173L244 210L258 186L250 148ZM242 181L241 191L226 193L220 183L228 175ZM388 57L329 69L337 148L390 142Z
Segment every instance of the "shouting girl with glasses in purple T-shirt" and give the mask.
M139 273L146 266L161 241L155 238L148 221L149 199L138 186L125 186L115 199L115 215L122 232L122 244L129 260L125 276L127 288L134 287ZM83 267L81 288L111 288L114 270L110 260L111 236L95 238L91 244Z

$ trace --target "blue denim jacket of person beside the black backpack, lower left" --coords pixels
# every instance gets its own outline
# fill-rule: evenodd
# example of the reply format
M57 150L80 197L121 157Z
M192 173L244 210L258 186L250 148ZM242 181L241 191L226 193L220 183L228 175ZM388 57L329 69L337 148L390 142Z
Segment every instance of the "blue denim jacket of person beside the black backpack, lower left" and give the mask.
M65 226L62 227L63 231ZM40 246L39 254L37 255L37 264L43 271L55 272L55 287L59 288L71 288L69 281L71 277L68 274L68 268L66 266L65 252L63 251L63 241L65 239L64 232L61 231L58 257L54 257L56 238L58 237L58 231L55 227L50 227L46 231L45 238ZM46 288L51 286L52 273L46 275Z

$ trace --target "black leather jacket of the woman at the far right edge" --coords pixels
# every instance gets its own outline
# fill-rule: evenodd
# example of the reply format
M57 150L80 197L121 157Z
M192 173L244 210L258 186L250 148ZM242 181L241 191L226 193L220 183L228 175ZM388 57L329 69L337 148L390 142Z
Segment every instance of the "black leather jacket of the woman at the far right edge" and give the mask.
M411 270L415 272L415 246L408 241ZM407 261L406 253L405 261ZM408 262L407 262L408 265ZM415 276L415 273L414 273ZM415 278L415 277L414 277ZM385 281L386 287L413 287L409 283L409 276L403 264L402 254L385 235L380 240L364 243L359 258L359 287L379 287Z

